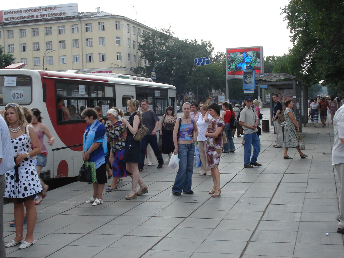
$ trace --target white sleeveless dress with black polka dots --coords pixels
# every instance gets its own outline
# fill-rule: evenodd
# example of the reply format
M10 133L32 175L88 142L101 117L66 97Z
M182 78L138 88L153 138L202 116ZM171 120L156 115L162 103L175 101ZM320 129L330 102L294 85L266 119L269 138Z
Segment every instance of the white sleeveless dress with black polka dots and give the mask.
M29 151L29 138L25 133L16 139L11 139L11 143L14 157L17 156L17 153L23 154ZM36 194L43 191L31 157L25 158L18 169L7 171L6 179L4 197L23 199L32 196L30 199L34 199ZM17 202L20 201L17 200Z

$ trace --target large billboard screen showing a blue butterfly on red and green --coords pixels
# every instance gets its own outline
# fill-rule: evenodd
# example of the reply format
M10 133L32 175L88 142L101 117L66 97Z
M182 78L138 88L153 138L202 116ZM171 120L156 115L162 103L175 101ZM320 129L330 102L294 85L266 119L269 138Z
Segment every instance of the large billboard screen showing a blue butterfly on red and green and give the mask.
M264 73L262 46L226 49L227 79L242 78L246 66L252 66L256 73Z

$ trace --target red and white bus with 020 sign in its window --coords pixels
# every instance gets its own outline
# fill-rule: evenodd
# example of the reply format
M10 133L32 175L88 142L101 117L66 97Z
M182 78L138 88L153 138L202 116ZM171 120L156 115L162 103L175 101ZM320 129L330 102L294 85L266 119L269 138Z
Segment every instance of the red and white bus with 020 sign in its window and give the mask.
M46 144L48 161L41 173L45 179L77 176L82 164L83 134L86 128L86 122L79 116L82 109L99 106L106 118L109 108L118 107L127 116L129 99L148 99L149 108L159 116L165 113L169 105L175 110L176 89L172 85L123 79L105 73L0 70L0 109L11 102L38 108L44 118L43 123L55 136L53 147ZM66 118L61 105L76 109L77 114Z

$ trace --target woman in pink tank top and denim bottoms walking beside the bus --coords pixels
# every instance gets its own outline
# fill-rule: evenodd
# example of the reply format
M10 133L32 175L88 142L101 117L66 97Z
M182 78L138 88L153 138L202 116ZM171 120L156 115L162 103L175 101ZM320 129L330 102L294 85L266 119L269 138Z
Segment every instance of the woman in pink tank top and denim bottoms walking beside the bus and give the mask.
M47 150L47 148L43 142L43 138L44 138L44 135L46 135L49 138L47 143L50 146L53 146L55 138L54 138L54 136L52 136L49 129L45 125L43 125L42 117L41 117L41 111L37 108L31 108L31 111L32 111L31 125L33 126L33 128L36 131L36 134L37 134L38 140L40 141L40 146L41 146L41 154L38 154L37 159L36 159L36 162L37 162L36 170L37 170L38 177L39 177L41 184L42 184L42 187L43 187L42 196L40 196L35 202L35 205L39 205L42 202L42 198L45 197L46 191L49 188L49 186L47 184L45 184L43 182L43 180L40 178L40 173L42 171L42 168L46 166L46 160L47 160L46 155L48 154L48 150Z

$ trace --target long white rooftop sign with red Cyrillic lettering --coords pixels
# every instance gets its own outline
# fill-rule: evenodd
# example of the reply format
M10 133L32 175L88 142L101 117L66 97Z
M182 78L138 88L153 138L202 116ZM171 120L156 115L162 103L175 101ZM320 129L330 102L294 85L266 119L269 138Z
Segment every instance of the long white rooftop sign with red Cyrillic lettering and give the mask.
M78 4L66 3L0 11L0 22L28 21L76 15L78 15Z

